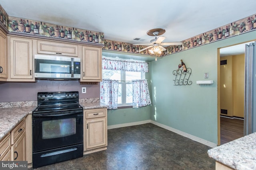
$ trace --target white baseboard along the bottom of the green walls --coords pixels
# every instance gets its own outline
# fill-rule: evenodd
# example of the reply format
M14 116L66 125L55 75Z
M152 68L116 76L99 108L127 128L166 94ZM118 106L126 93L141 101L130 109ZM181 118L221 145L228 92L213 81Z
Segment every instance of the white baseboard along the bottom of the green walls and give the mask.
M182 132L182 131L179 131L177 129L174 129L172 127L169 127L169 126L166 126L166 125L163 125L161 123L158 123L156 121L152 121L152 120L145 120L145 121L137 121L137 122L132 122L132 123L123 123L123 124L118 124L118 125L109 125L108 126L108 129L115 129L115 128L120 128L120 127L128 127L128 126L134 126L134 125L142 125L142 124L145 124L145 123L152 123L156 126L159 126L159 127L162 127L164 129L167 129L169 131L172 131L174 133L177 133L179 135L182 135L184 137L187 137L189 139L192 139L193 141L197 141L199 143L202 143L204 145L207 145L209 147L217 147L217 144L216 143L212 143L210 141L206 141L202 138L199 138L199 137L196 137L196 136L193 136L193 135L190 135L188 133L185 133L185 132Z

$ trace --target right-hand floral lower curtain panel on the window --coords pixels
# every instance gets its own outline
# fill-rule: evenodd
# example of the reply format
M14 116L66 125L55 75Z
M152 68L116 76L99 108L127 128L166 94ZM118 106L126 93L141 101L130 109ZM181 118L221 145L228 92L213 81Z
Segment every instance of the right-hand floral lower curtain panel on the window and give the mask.
M142 107L151 104L148 81L132 80L132 107Z

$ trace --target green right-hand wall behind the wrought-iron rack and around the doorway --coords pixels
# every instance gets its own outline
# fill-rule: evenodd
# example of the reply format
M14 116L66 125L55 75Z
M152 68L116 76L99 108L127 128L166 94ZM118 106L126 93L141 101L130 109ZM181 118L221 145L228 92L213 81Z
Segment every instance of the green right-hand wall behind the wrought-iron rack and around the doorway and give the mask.
M150 63L151 119L217 144L217 49L256 39L256 31L168 55ZM191 85L174 86L180 59L192 69ZM204 73L209 78L204 79ZM196 80L213 80L198 85Z

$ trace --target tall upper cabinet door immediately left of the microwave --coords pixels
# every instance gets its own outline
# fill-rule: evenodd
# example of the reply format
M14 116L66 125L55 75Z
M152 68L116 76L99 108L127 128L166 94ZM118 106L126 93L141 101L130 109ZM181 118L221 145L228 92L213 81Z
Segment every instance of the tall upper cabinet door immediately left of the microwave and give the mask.
M34 81L33 63L32 39L10 37L10 81Z

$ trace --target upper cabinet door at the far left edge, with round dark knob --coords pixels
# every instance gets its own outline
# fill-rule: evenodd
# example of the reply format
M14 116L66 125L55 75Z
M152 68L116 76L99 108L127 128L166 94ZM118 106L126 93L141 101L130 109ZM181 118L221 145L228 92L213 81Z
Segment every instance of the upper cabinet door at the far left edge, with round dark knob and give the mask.
M0 78L7 78L7 35L0 29Z

